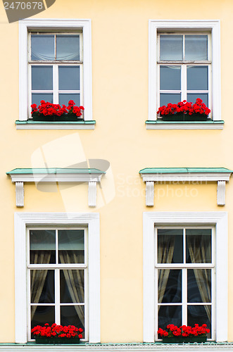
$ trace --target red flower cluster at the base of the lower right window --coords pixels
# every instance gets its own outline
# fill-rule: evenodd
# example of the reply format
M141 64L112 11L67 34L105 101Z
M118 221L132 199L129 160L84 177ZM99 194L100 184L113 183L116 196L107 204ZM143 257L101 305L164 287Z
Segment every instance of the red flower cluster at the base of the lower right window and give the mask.
M207 325L203 324L199 326L195 324L194 327L189 327L186 325L182 325L181 327L177 327L176 325L169 324L167 325L167 330L163 330L161 328L158 329L158 335L160 337L194 337L194 336L203 336L206 337L206 334L210 332L210 329L207 329Z

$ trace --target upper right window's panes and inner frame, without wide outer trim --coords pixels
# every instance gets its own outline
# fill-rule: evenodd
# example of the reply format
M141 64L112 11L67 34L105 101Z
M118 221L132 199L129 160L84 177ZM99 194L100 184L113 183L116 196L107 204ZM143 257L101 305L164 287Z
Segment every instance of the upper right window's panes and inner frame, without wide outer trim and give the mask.
M211 110L211 35L158 32L157 47L158 107L201 98Z

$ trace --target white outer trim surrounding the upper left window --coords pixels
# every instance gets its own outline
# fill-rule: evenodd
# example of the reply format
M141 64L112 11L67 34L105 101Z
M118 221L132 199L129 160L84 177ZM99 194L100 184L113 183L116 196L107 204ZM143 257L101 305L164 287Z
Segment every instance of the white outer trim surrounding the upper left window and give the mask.
M83 105L84 120L92 121L92 26L91 20L20 20L19 21L19 120L26 121L28 114L28 30L82 30L83 33Z

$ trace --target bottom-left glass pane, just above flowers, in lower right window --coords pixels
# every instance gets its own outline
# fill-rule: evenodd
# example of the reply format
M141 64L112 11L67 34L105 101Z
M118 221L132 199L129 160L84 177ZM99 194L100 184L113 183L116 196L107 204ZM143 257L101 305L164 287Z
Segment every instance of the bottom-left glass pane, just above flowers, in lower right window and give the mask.
M168 324L182 325L182 306L158 306L158 327L165 329Z

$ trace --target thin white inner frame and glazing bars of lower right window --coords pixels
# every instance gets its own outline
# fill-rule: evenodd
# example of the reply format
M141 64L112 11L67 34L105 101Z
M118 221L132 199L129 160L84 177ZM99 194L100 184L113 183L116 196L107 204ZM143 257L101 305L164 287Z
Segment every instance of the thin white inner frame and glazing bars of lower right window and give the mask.
M183 231L182 237L183 237L183 251L184 253L186 252L186 244L185 244L185 233L186 230L189 229L210 229L211 230L211 263L158 263L157 262L157 253L158 253L158 229L180 229ZM182 306L182 325L188 325L187 323L187 307L188 306L196 306L196 304L205 306L208 304L211 306L211 327L212 327L212 336L210 340L215 341L215 227L213 226L206 226L206 225L200 225L198 226L190 226L190 225L171 225L170 227L168 226L156 226L155 227L155 297L158 297L158 270L160 269L170 269L170 270L182 270L182 301L180 303L177 303L177 305ZM185 258L185 256L184 256ZM185 261L185 260L184 260ZM211 301L209 303L188 303L187 301L187 270L188 269L209 269L211 270ZM174 303L158 303L158 300L155 299L155 311L158 312L158 306L172 306ZM156 340L158 340L158 314L155 314L155 319L156 319Z

